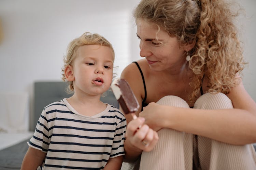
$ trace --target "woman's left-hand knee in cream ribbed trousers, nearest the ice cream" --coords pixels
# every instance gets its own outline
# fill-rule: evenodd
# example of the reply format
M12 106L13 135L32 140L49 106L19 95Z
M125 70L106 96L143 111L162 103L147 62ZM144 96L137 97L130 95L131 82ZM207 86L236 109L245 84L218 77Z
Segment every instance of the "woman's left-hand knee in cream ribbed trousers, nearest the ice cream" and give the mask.
M157 103L160 105L189 108L187 102L177 96L164 96Z

